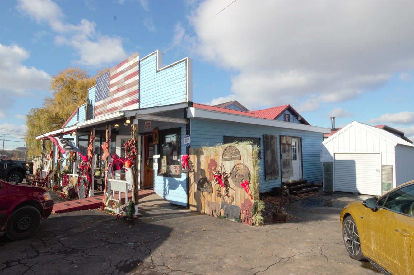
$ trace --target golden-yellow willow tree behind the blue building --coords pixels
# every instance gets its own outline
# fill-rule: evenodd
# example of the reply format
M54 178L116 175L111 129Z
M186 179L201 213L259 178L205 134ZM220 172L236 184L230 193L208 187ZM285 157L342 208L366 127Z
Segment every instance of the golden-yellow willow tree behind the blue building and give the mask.
M88 89L95 85L96 77L108 69L97 71L90 77L87 70L67 68L51 78L51 97L44 97L42 107L31 109L26 115L26 145L29 156L42 152L42 142L36 136L59 129L77 107L85 103Z

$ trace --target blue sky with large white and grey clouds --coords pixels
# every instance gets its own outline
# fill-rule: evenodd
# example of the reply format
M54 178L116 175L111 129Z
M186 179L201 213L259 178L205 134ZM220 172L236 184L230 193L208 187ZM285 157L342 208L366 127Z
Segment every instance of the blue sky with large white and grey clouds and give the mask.
M194 102L291 104L313 126L335 116L337 128L386 124L414 140L414 1L232 2L0 1L5 149L24 145L51 76L155 50L164 65L193 59Z

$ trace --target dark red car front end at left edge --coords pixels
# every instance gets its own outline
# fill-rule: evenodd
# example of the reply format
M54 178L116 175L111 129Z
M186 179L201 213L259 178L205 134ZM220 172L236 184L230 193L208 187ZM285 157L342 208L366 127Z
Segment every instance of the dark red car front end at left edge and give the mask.
M53 199L47 190L0 178L0 236L18 241L36 233L50 216Z

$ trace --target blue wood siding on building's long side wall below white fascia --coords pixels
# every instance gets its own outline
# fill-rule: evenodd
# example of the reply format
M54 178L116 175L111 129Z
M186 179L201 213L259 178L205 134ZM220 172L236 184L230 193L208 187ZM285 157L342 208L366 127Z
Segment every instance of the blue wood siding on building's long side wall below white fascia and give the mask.
M280 177L273 180L265 180L265 152L263 143L263 134L265 133L278 136L277 152L279 159L279 175L281 175L280 135L288 135L301 138L303 178L306 178L309 183L322 181L322 163L320 162L320 152L322 152L323 134L321 133L272 128L265 126L253 126L240 123L226 123L202 119L191 119L190 129L192 148L201 147L202 144L213 146L219 143L223 143L224 135L238 137L259 137L262 156L262 159L259 162L259 187L261 193L271 191L272 187L280 187L282 184L282 179Z

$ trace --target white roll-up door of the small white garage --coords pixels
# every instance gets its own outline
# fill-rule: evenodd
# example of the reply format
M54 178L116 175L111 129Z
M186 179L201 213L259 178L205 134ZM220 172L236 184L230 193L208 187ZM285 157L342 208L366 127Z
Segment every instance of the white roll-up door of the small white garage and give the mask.
M335 191L381 194L380 154L335 154Z

